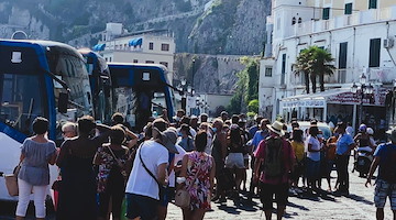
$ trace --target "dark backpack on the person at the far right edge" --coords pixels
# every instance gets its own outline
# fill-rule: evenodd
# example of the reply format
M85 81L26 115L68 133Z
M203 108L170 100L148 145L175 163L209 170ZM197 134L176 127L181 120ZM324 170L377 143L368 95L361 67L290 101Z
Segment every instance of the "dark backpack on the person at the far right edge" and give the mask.
M387 155L381 160L381 177L388 184L396 184L396 148L392 144L386 144Z

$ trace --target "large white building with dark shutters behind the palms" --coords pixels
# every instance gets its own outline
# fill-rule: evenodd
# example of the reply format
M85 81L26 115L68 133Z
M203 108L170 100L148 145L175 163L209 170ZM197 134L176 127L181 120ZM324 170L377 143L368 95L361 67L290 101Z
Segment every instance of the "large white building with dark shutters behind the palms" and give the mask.
M384 96L396 78L395 0L273 0L267 24L273 38L272 55L261 61L262 112L355 123L360 99L349 89L364 73L375 92L364 101L363 119L386 119ZM328 50L337 67L326 77L331 91L315 96L305 95L304 75L295 70L296 57L311 45Z

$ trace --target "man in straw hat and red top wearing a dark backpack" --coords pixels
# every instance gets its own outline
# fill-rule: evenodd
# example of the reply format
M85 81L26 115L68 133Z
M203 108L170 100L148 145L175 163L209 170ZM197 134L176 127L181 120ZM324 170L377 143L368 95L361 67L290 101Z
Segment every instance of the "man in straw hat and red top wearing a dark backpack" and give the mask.
M262 141L255 152L254 182L260 180L261 201L267 220L272 219L273 197L277 204L277 219L282 219L289 190L289 173L293 170L294 152L282 130L283 123L267 124L270 138ZM277 155L277 156L275 156ZM260 167L263 169L261 170Z

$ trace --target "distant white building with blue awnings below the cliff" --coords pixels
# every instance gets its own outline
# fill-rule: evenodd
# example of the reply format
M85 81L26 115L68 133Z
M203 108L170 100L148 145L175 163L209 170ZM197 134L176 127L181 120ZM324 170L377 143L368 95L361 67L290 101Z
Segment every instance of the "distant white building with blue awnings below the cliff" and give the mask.
M167 30L125 33L122 24L108 23L101 41L94 46L107 62L162 64L173 81L175 38Z

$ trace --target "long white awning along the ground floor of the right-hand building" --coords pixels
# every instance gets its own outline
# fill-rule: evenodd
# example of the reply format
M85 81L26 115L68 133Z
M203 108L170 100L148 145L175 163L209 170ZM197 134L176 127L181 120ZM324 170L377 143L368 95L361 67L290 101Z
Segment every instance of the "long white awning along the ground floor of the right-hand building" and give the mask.
M374 87L374 95L363 99L364 106L384 106L386 88ZM317 94L297 95L280 100L283 108L324 108L328 103L338 105L360 105L361 98L358 94L352 94L350 88L330 89Z

